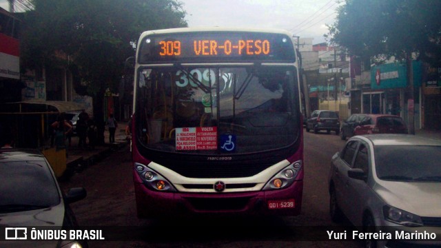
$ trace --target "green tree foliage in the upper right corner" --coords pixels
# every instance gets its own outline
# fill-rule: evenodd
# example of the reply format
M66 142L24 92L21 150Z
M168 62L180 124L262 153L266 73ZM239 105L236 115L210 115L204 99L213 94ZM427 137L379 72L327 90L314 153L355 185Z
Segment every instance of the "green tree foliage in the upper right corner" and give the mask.
M325 37L363 59L383 54L404 59L416 52L441 62L441 1L346 0Z

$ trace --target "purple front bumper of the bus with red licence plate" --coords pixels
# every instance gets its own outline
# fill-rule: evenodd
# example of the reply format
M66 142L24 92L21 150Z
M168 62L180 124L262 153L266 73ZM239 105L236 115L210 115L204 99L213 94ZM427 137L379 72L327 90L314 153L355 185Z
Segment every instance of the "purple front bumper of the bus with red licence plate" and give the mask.
M297 216L302 208L302 180L285 189L259 192L167 193L138 182L134 188L139 218L191 214Z

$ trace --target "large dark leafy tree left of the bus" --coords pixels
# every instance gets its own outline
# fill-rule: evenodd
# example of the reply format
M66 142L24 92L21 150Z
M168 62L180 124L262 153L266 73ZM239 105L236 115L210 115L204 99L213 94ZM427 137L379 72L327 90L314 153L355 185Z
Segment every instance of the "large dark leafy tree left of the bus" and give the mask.
M145 30L185 27L185 11L176 0L33 0L22 31L27 68L63 63L79 79L78 94L94 98L94 116L103 120L104 92L118 89L125 59L134 56ZM59 59L67 54L68 61ZM102 127L103 127L103 123ZM103 130L103 129L102 129ZM103 142L103 135L101 137ZM101 140L100 139L100 140Z

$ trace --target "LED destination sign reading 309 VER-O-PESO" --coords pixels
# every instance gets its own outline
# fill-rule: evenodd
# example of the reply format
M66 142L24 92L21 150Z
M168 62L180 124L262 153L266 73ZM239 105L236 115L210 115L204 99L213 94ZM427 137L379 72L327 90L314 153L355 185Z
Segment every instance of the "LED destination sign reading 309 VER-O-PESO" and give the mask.
M146 37L140 63L167 61L294 62L294 46L285 34L254 32L174 33Z

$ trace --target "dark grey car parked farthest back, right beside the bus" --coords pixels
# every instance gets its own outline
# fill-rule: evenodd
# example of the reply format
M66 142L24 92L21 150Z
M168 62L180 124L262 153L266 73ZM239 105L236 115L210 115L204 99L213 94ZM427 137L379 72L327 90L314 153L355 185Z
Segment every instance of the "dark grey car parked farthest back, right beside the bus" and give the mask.
M311 113L311 117L306 122L306 132L314 130L314 133L326 130L329 134L331 131L340 134L340 120L338 113L331 110L315 110Z

